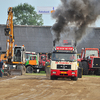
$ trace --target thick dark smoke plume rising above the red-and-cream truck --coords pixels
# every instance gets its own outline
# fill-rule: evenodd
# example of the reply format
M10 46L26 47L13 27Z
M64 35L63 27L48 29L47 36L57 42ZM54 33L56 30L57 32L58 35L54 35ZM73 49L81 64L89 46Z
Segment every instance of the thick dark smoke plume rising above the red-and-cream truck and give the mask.
M100 0L61 0L61 5L52 13L56 23L52 26L54 40L58 42L63 33L81 40L88 25L94 23L100 14ZM73 31L68 27L74 26ZM68 29L68 30L67 30Z

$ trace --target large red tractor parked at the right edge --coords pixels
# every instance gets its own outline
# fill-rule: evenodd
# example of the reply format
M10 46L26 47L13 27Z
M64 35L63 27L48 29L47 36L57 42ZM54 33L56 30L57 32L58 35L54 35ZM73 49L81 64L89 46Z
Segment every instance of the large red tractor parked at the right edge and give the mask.
M83 75L100 75L100 57L98 48L82 48L78 62L83 68Z

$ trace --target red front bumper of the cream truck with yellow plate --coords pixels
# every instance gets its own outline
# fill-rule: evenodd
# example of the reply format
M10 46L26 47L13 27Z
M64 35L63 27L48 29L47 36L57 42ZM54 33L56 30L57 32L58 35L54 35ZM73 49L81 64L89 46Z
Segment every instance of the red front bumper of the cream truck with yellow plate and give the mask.
M52 70L51 69L51 76L58 76L58 77L77 77L77 70Z

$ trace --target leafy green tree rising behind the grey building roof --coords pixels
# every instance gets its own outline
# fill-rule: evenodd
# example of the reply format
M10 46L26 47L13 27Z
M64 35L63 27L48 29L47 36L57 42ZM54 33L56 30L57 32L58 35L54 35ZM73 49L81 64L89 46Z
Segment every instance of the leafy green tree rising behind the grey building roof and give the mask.
M27 3L13 7L13 23L15 25L43 25L42 15Z

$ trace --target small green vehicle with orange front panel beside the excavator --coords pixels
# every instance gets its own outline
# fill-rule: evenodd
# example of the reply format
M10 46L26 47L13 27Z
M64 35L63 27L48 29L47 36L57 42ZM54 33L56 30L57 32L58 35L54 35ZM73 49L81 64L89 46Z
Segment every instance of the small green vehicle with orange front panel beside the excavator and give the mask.
M28 60L25 63L27 73L39 73L39 61L37 55L30 55Z

